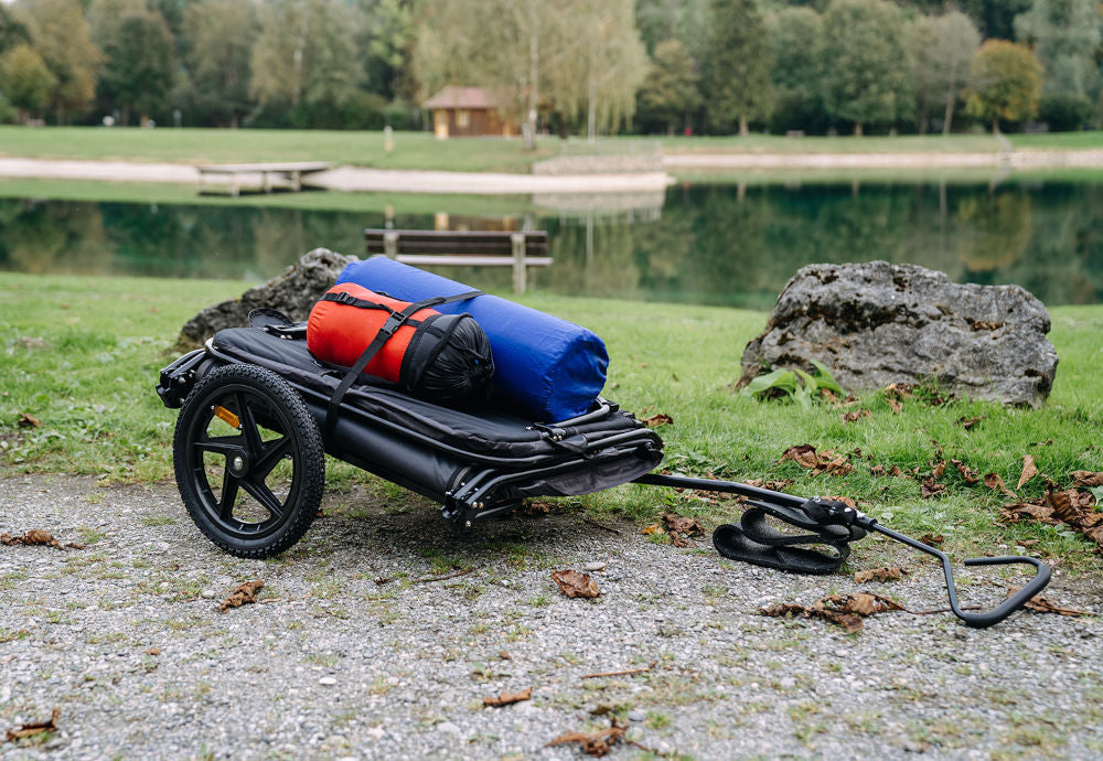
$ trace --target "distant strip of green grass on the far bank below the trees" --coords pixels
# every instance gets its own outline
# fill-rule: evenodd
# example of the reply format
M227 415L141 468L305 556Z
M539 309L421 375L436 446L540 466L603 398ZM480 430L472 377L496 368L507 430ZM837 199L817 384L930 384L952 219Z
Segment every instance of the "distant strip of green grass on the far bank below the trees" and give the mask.
M1009 135L1016 148L1084 150L1103 148L1103 132ZM572 138L561 146L545 137L536 151L520 139L460 138L436 140L429 132L396 132L386 152L382 132L325 130L138 129L98 127L0 127L0 156L49 159L103 159L182 163L242 161L332 161L381 169L527 172L534 161L568 153L652 150L671 153L900 153L996 152L990 135L941 135L855 138L751 135L749 137L614 137L596 146Z

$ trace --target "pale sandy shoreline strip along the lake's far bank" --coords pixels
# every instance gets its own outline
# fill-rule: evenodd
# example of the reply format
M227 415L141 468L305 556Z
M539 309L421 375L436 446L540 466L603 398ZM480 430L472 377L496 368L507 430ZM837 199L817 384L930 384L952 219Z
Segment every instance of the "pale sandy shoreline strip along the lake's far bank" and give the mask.
M571 174L512 174L445 170L372 169L342 165L319 172L303 184L343 192L479 195L606 194L662 192L676 180L671 171L921 170L921 169L1101 169L1103 150L1017 150L906 153L664 153L657 171ZM0 157L0 179L228 184L228 178L201 179L192 164L170 162L56 160ZM244 184L261 184L256 175Z

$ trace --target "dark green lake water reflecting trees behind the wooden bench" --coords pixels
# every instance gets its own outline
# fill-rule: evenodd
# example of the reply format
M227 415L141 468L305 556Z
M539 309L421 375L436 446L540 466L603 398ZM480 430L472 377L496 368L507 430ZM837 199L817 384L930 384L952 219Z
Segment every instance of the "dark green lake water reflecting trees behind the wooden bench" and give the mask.
M535 206L527 218L441 204L393 224L547 229L555 262L529 281L565 294L769 309L805 264L885 259L1018 283L1051 306L1103 302L1103 183L679 184L627 211ZM0 269L256 281L317 246L363 255L362 229L384 222L377 211L0 199ZM510 283L508 268L439 271Z

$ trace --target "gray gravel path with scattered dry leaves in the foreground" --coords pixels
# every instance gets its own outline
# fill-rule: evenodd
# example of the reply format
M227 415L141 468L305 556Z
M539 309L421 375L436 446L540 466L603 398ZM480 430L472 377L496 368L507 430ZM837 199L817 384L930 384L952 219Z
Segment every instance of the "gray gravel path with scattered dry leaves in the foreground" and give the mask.
M430 505L390 514L361 486L331 490L325 511L286 556L246 561L202 537L172 484L0 482L0 533L87 544L0 545L0 731L60 709L56 732L2 742L0 759L571 759L546 743L608 727L610 710L630 740L678 758L1103 754L1097 618L1020 613L975 631L891 613L847 635L757 614L856 591L845 576L730 565L577 515L457 539ZM909 559L893 551L867 540L852 566ZM607 558L596 601L550 581ZM865 587L942 607L936 569L913 564ZM411 583L457 566L473 570ZM967 599L1003 597L974 578ZM249 579L263 602L219 613ZM1103 611L1093 580L1059 576L1047 596ZM482 706L525 687L529 701Z

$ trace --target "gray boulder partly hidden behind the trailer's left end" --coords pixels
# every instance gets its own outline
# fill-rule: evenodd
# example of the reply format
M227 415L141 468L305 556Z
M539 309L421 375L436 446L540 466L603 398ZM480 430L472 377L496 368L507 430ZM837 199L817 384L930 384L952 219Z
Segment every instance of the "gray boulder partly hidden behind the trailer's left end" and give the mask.
M311 307L338 280L338 275L354 256L315 248L268 282L250 288L237 299L223 301L202 310L184 323L180 344L196 346L223 328L248 325L254 309L278 309L292 320L306 320Z

